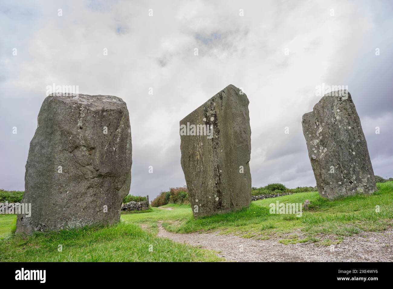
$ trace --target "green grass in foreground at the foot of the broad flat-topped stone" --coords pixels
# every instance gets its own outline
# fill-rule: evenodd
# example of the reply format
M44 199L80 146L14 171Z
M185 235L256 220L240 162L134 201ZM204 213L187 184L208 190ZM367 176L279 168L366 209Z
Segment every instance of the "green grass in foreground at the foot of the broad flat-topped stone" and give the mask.
M59 252L60 246L62 251ZM149 251L152 249L152 252ZM38 233L0 240L0 262L220 261L213 252L158 238L138 225Z

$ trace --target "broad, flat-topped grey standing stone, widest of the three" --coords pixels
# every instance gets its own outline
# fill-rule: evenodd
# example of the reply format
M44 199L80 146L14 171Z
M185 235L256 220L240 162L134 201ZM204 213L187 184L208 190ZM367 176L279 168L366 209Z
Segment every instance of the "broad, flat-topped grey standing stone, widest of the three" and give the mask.
M110 95L52 94L30 142L17 233L111 225L131 183L132 144L125 102Z

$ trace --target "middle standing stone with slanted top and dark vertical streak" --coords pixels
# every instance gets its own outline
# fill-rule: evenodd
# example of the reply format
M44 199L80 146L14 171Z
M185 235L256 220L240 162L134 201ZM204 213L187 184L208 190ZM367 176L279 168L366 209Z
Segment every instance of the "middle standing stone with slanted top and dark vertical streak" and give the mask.
M250 205L248 104L229 85L180 121L181 164L195 218Z

